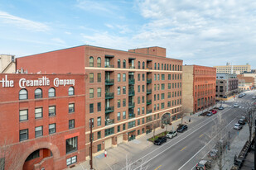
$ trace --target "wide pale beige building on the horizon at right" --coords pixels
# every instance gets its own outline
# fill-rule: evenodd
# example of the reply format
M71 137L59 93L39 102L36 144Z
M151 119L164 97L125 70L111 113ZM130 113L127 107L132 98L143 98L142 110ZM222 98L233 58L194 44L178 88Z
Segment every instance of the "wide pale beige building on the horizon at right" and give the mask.
M249 64L246 65L231 65L227 63L223 66L214 66L216 68L216 73L244 73L244 72L250 72L251 66Z

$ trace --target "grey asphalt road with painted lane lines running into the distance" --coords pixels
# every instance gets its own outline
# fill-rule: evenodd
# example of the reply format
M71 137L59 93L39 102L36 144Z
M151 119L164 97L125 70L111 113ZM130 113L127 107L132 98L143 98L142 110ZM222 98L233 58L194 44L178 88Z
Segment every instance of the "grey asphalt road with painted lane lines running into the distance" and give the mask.
M191 123L186 132L179 133L174 139L167 139L167 143L161 146L152 146L146 153L143 153L144 155L133 158L133 161L138 160L137 163L133 163L133 169L140 169L137 164L147 170L194 169L196 163L215 146L216 135L226 135L225 138L227 138L228 131L230 131L230 142L232 142L237 133L233 127L241 116L241 109L248 103L254 102L252 100L254 95L255 92L247 92L243 98L230 99L225 102L225 105L228 105L225 110L218 111L214 116L205 116L200 122ZM234 102L239 103L240 108L234 108ZM220 123L223 120L225 122ZM142 163L140 163L141 160Z

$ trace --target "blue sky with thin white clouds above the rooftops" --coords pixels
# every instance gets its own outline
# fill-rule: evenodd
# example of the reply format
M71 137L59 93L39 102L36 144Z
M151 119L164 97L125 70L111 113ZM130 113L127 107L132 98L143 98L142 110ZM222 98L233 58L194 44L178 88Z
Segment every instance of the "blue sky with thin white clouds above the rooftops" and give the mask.
M95 45L161 46L184 64L256 68L255 0L12 0L0 2L0 54Z

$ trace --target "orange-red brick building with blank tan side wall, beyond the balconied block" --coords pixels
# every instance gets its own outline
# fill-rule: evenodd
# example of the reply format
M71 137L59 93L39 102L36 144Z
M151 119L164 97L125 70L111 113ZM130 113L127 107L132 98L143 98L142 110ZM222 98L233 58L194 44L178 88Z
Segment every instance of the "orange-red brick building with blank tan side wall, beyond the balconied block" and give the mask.
M195 113L215 104L216 68L184 65L182 81L183 111Z

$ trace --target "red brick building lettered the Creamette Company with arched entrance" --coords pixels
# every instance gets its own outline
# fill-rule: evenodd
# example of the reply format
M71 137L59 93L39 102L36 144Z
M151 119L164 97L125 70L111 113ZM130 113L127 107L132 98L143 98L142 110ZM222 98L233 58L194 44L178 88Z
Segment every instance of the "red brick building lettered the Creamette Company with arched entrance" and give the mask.
M84 74L0 74L0 118L4 169L85 161Z

